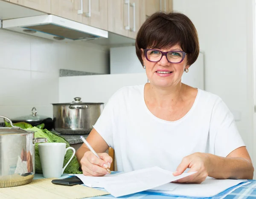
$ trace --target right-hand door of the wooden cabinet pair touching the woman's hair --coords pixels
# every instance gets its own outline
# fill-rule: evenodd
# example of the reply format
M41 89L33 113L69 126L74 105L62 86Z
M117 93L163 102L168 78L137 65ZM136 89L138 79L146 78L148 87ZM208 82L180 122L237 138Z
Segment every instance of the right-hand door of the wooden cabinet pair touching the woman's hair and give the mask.
M128 37L135 39L140 26L145 21L143 3L143 0L130 0L130 31L128 31Z

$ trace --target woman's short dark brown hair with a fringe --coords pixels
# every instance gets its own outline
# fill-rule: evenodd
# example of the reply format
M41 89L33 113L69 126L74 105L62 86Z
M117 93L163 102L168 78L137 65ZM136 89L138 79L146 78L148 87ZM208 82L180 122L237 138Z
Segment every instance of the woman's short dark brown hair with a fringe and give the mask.
M192 21L178 12L156 12L143 23L138 31L135 47L136 54L143 65L141 48L171 48L179 44L187 53L187 65L198 58L198 34Z

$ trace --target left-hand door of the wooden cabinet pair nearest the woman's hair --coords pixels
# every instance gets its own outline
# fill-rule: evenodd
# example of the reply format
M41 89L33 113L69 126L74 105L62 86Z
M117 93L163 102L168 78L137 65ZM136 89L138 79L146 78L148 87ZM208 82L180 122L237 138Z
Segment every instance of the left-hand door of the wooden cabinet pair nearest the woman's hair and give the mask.
M108 0L108 31L128 37L129 0Z

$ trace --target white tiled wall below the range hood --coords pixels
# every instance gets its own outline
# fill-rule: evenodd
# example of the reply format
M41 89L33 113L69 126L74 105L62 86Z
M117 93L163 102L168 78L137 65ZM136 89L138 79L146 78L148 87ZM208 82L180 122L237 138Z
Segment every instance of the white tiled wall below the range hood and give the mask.
M59 69L108 74L108 57L99 45L60 43L0 29L0 115L28 115L35 106L38 114L52 117Z

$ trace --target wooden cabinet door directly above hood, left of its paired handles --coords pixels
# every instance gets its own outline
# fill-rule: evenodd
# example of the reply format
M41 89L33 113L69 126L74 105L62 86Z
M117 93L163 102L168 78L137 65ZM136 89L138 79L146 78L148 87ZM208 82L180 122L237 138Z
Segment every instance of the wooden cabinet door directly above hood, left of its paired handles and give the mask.
M82 14L79 14L79 10L81 10L80 0L51 1L51 14L81 23Z

